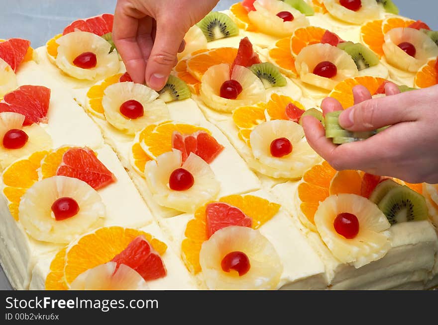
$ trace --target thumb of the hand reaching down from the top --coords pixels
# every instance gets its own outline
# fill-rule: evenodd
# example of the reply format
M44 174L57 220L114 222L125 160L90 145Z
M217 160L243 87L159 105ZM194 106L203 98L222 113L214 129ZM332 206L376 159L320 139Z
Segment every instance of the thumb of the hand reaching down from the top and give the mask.
M176 24L157 19L157 32L151 54L146 65L146 84L160 90L169 78L177 60L177 53L185 33Z

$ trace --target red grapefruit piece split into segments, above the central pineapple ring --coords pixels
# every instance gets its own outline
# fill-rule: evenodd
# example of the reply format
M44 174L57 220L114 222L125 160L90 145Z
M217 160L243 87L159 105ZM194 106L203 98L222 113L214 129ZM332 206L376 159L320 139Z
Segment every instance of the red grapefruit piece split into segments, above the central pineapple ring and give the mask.
M183 135L175 131L172 135L172 148L181 151L183 163L190 153L201 157L206 163L212 163L224 149L215 138L204 131L192 135Z

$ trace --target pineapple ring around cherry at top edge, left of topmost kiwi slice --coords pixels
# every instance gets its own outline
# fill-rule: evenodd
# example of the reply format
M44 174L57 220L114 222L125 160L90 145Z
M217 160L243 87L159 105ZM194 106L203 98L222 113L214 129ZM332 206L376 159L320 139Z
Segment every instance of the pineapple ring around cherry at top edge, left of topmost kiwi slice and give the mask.
M249 20L257 28L268 35L283 38L291 36L294 31L310 25L309 19L291 5L278 0L257 0L254 2L255 11L248 13ZM283 21L277 16L281 11L289 11L294 16L292 21Z

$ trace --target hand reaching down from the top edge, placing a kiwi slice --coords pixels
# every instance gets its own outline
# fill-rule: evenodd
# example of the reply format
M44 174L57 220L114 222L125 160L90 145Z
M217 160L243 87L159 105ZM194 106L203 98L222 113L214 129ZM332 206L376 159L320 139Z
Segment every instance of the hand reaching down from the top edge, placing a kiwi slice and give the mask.
M160 90L190 27L219 0L117 0L112 37L135 82Z

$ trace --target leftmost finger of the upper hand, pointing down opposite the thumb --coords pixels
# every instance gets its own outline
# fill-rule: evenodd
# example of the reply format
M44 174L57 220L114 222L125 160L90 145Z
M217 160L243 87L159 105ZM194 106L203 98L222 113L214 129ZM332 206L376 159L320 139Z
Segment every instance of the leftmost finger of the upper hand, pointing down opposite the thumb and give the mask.
M125 63L126 70L135 82L144 82L145 61L137 42L139 19L145 15L127 2L117 2L114 14L112 37L118 53Z

